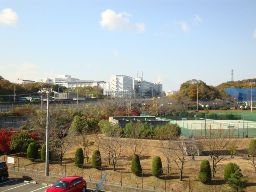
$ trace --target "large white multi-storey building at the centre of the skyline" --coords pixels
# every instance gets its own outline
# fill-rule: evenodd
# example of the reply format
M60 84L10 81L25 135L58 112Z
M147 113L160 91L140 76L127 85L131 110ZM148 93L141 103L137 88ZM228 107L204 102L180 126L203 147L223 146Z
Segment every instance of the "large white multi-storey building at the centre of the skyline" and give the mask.
M126 75L111 75L110 90L105 91L104 95L124 96L135 94L136 97L152 97L162 94L162 84L152 83L143 78L132 78ZM133 95L134 96L134 95Z

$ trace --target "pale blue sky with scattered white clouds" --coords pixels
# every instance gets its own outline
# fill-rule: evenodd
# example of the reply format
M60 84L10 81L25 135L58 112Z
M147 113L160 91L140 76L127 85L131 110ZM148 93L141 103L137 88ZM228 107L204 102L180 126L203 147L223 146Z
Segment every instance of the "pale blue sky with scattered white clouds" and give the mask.
M0 0L0 75L113 74L216 86L256 78L255 0Z

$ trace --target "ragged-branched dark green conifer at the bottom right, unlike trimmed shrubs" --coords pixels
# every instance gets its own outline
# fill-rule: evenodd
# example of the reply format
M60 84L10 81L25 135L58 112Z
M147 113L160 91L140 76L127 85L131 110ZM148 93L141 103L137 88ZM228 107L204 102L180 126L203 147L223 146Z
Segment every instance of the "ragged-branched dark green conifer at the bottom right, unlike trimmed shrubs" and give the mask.
M232 190L229 192L244 192L244 189L246 188L246 182L248 182L248 180L243 178L244 176L241 173L241 169L235 163L234 170L234 173L230 175L230 178L227 181L227 184L229 184L232 188Z

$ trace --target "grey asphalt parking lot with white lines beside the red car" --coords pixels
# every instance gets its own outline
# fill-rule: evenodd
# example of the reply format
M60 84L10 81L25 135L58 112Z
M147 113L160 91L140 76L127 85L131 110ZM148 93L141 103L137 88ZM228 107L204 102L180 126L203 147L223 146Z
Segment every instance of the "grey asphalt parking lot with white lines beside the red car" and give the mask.
M43 181L26 180L22 178L8 178L0 182L0 192L44 192L52 183ZM91 192L92 190L87 190Z

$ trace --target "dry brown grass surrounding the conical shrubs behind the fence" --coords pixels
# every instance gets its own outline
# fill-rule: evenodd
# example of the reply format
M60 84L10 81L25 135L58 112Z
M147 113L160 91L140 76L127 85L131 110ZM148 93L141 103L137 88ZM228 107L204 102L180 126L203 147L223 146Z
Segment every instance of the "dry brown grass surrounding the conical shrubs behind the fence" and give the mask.
M92 140L96 141L96 136L92 136ZM130 142L129 139L123 138L123 142ZM192 161L192 164L190 166L184 168L183 172L183 180L182 182L179 181L179 173L180 170L177 168L176 164L174 162L171 163L171 174L166 174L163 176L160 176L160 178L154 178L151 174L151 163L154 156L160 156L162 160L162 165L164 169L164 173L166 173L167 168L167 162L160 152L160 148L158 148L159 143L157 140L144 140L143 142L146 142L148 145L144 152L140 155L140 163L142 165L142 170L144 172L143 174L143 185L144 188L153 188L156 189L165 189L165 178L166 178L166 190L171 191L172 188L175 192L184 192L188 190L188 185L190 184L191 191L196 192L209 192L214 191L214 182L216 182L216 192L225 192L228 191L230 188L228 185L224 183L223 175L224 175L224 168L226 164L229 162L235 162L240 166L242 169L242 173L246 178L249 180L249 186L247 187L246 191L252 192L256 191L256 173L254 173L254 170L252 167L250 167L248 164L246 164L246 160L244 160L242 157L235 158L229 158L227 157L224 161L219 162L216 168L216 178L212 178L212 182L210 184L202 184L198 182L198 172L200 169L200 163L203 159L208 159L211 164L211 158L210 157L196 157L194 161ZM237 140L238 148L248 148L250 139L248 138L239 138ZM132 185L142 187L142 176L135 176L131 173L131 159L132 159L132 150L129 146L126 146L122 156L120 157L120 160L118 160L116 164L117 171L114 172L112 170L112 165L108 165L107 158L104 156L104 152L101 151L102 154L102 170L97 170L91 167L91 162L85 163L84 168L78 168L74 166L74 154L78 147L82 147L82 144L80 143L80 138L76 138L76 141L74 142L72 148L68 150L68 152L65 154L63 162L66 162L66 175L82 175L84 178L91 178L92 180L100 180L102 174L104 175L105 172L108 172L108 176L106 178L107 182L113 182L113 183L120 183L120 180L122 179L122 184ZM92 146L90 148L89 156L92 156L93 150L98 149L96 146ZM1 160L3 160L4 157L0 157ZM17 158L16 158L17 160ZM10 164L8 166L11 166ZM17 164L16 164L17 166ZM26 166L27 172L32 172L32 162L27 159L19 158L19 167L24 168ZM15 168L17 170L17 168ZM34 162L34 170L42 171L39 174L44 174L43 171L45 169L45 164L36 161ZM58 163L50 163L49 170L52 175L60 174L62 176L65 175L65 166L64 164L60 166ZM20 169L19 171L24 172L24 169ZM122 178L121 178L122 177ZM216 181L214 181L216 180Z

